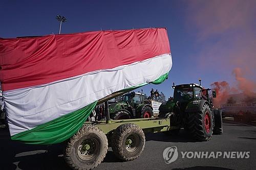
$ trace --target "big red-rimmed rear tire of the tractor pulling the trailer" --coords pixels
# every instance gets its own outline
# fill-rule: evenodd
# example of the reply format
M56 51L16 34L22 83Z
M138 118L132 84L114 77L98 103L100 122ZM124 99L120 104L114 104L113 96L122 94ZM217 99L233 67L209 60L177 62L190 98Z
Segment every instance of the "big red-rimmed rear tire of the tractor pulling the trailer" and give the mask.
M195 139L200 141L211 139L214 123L212 113L207 104L203 105L201 111L188 114L187 127Z

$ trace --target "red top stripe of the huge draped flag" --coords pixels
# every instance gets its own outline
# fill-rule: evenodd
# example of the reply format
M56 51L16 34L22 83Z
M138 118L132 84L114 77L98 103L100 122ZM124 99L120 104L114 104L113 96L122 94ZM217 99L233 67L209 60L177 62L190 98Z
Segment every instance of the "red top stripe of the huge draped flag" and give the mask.
M170 53L165 29L0 39L2 90L46 84Z

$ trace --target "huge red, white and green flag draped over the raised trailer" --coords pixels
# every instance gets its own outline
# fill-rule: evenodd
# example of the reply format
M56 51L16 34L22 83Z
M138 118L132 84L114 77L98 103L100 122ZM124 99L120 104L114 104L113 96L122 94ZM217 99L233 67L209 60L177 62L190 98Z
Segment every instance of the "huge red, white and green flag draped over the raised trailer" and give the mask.
M0 65L11 138L50 144L76 133L105 96L163 82L172 57L159 28L0 38Z

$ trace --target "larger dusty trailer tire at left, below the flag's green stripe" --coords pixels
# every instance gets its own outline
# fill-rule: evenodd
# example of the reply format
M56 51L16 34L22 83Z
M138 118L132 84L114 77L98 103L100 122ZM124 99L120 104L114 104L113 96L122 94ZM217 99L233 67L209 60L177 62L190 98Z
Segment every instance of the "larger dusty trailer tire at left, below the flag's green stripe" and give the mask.
M88 147L89 146L89 147ZM98 166L108 151L106 135L95 126L83 126L67 143L64 158L76 170Z

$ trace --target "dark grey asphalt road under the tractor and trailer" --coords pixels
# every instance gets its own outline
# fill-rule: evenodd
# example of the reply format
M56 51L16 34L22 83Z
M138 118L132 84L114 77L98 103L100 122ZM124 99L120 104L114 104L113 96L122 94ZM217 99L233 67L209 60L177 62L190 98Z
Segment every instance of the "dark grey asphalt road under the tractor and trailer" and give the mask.
M165 148L176 146L179 157L166 164L162 153ZM0 169L69 169L63 160L63 144L51 146L28 145L10 140L8 131L0 129ZM162 133L147 134L142 155L130 162L115 158L113 152L95 170L100 169L255 169L256 128L245 125L224 123L224 134L214 135L208 142L198 142L181 130L178 136ZM182 158L180 152L250 152L247 159L189 159Z

